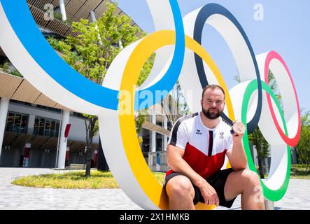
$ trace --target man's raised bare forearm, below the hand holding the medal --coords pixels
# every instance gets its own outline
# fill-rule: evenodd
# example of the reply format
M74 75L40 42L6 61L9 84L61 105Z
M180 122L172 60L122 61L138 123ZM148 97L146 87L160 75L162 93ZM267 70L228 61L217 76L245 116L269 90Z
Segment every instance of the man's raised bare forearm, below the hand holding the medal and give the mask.
M248 164L246 153L244 151L244 144L242 143L243 137L244 134L232 134L233 146L226 153L228 160L230 160L230 165L234 171L246 169Z

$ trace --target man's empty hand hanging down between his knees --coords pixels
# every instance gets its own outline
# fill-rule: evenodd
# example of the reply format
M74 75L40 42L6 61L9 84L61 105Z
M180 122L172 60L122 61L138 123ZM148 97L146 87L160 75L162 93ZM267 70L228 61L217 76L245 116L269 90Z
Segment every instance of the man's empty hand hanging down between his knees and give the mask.
M202 197L204 197L204 204L216 206L220 204L216 190L205 179L200 179L195 185L199 188L200 193L202 193Z

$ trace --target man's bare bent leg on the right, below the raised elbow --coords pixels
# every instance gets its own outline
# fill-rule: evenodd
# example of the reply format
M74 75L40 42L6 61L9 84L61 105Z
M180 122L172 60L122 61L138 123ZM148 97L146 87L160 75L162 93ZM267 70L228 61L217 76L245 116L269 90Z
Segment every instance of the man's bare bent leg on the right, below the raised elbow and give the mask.
M241 194L241 209L265 210L264 195L258 174L249 169L232 172L225 183L224 195L230 201Z

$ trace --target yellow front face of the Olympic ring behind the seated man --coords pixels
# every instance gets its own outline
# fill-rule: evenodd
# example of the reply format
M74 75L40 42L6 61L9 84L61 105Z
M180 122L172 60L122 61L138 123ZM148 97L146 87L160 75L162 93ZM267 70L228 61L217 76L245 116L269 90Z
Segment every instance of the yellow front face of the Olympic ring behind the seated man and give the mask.
M174 45L175 42L175 31L157 31L149 36L146 36L146 38L144 38L141 43L136 46L134 52L132 52L132 55L129 57L122 77L122 83L120 85L120 92L125 90L129 92L130 96L132 96L132 105L130 107L132 113L124 113L119 115L120 131L125 153L136 180L139 182L141 188L144 190L146 195L148 195L150 200L160 209L168 209L167 194L164 192L160 183L157 182L152 172L150 172L150 169L141 153L139 141L136 136L136 126L134 123L133 85L136 84L139 78L139 73L143 67L143 64L146 62L146 59L148 59L148 57L150 57L150 55L157 49L162 48L165 45ZM197 41L193 38L190 38L190 36L185 36L185 47L202 57L204 62L206 62L206 64L210 67L211 71L213 71L219 85L223 87L227 96L226 104L228 115L231 120L234 120L234 111L232 109L230 94L227 90L225 81L211 56L208 52L206 52L206 50L204 50L204 48L202 48L202 45L199 45L199 43L197 43ZM121 100L122 99L119 101ZM228 164L227 167L229 166L230 165ZM199 202L195 208L209 210L214 209L215 206L207 206L206 204Z

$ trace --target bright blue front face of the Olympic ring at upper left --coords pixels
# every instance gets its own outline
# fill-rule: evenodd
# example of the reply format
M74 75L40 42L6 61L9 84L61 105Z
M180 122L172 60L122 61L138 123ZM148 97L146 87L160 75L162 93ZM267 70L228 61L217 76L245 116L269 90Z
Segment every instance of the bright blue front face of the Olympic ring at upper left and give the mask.
M139 97L141 91L148 90L152 92L153 102L160 102L164 98L164 94L161 97L157 97L155 91L164 92L166 90L169 92L174 87L174 83L176 83L181 73L185 54L183 20L178 2L176 0L170 0L169 3L174 15L174 24L176 27L174 57L162 79L155 83L155 85L145 90L140 90L136 94L136 99ZM118 109L118 91L93 83L72 69L69 64L66 64L41 34L34 18L32 18L26 1L16 3L12 0L1 0L1 4L10 21L11 27L13 27L15 34L20 39L22 45L24 45L24 48L27 49L29 55L34 58L52 79L69 92L87 102L107 109ZM66 75L64 76L64 74ZM72 80L74 80L74 85L72 84ZM135 102L139 101L136 100ZM139 108L139 104L135 104L135 109L141 109Z

